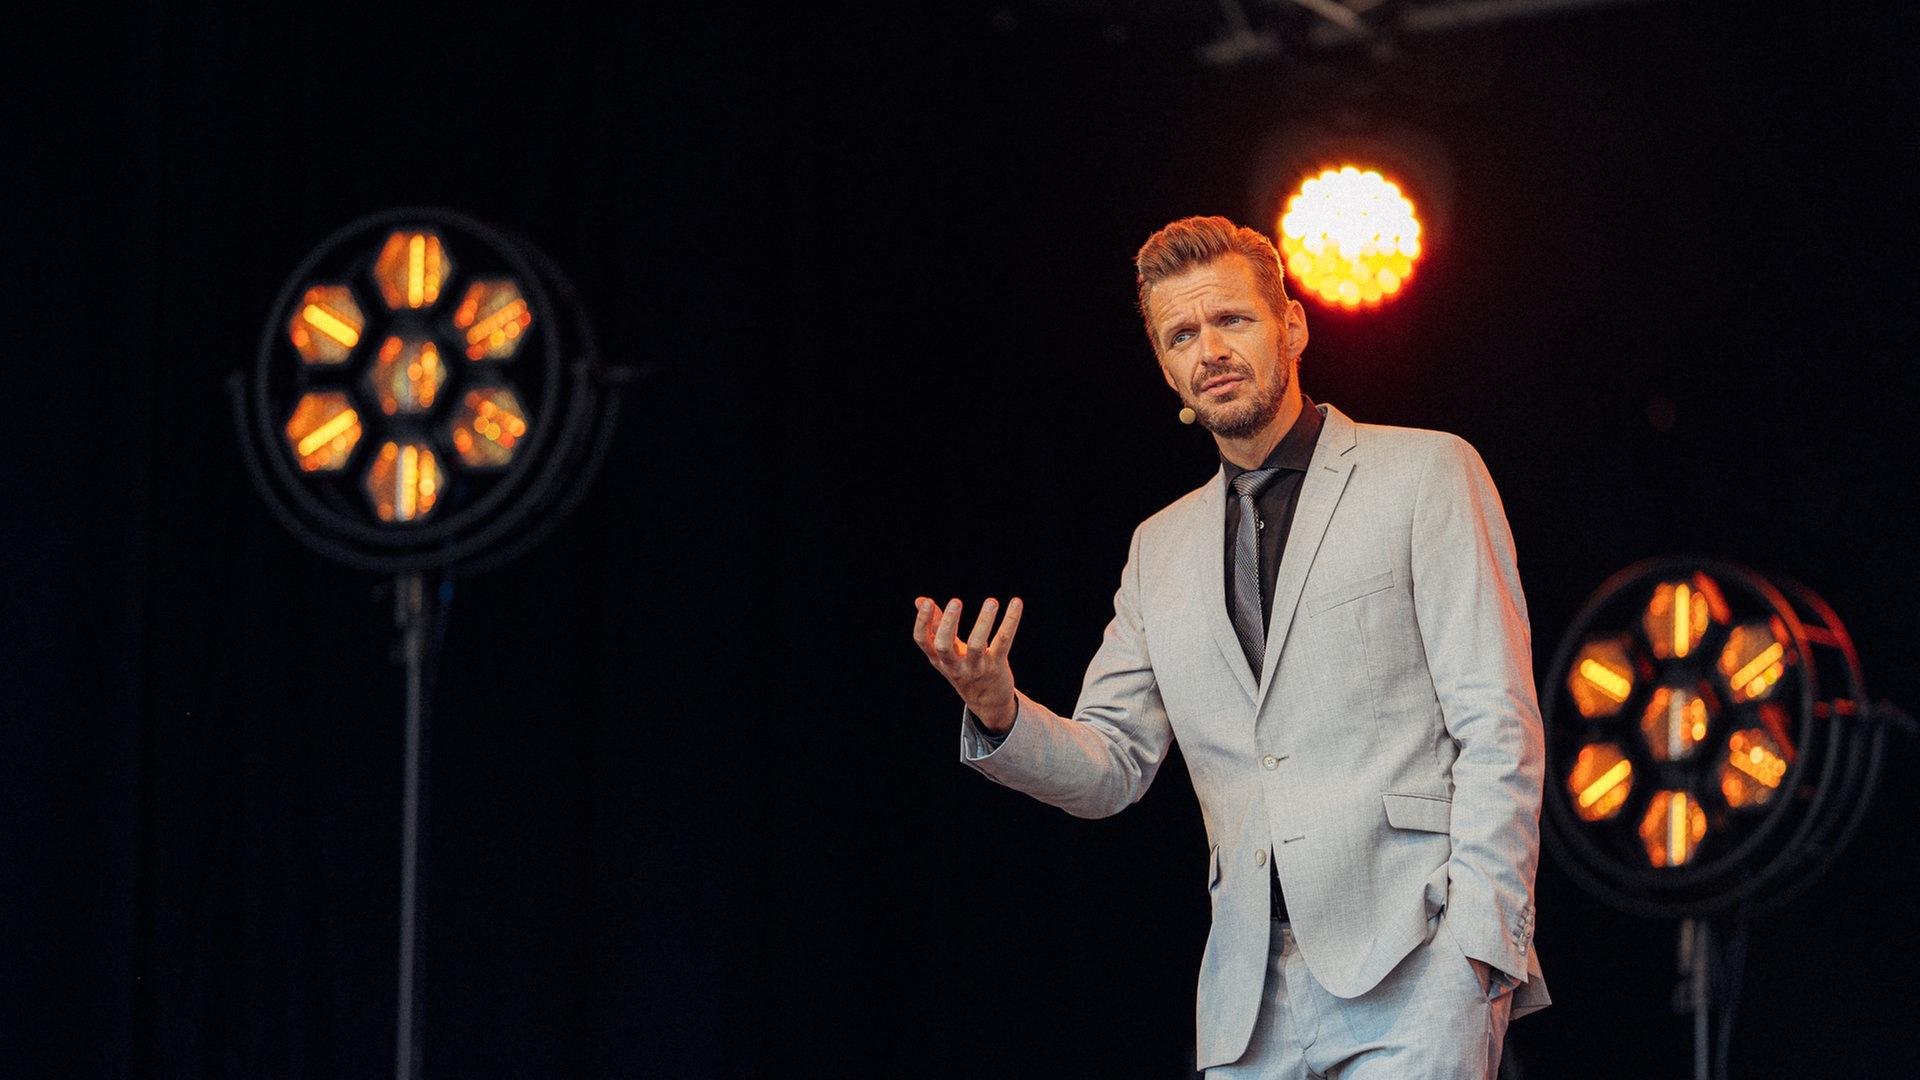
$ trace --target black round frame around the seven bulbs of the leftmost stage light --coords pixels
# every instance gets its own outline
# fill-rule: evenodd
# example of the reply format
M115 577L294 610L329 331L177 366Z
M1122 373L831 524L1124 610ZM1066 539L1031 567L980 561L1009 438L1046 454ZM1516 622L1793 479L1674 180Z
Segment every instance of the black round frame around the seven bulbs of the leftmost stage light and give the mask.
M419 304L384 296L376 281L390 240L409 231L432 236L449 267ZM503 281L532 317L511 350L470 357L457 327L463 296ZM290 329L315 288L336 286L351 290L365 323L344 357L315 363ZM444 384L397 415L376 404L369 384L390 338L436 342L447 365ZM572 509L605 452L616 411L616 394L605 390L616 375L601 365L572 284L543 252L465 213L397 208L338 229L294 267L261 331L252 379L236 375L230 390L255 486L303 542L363 569L472 573L524 550ZM524 432L503 465L465 465L451 446L449 415L482 388L507 388L524 411ZM313 392L348 394L363 425L348 461L324 473L301 469L284 442L296 404ZM369 459L396 440L430 448L447 475L432 509L382 521L365 480Z

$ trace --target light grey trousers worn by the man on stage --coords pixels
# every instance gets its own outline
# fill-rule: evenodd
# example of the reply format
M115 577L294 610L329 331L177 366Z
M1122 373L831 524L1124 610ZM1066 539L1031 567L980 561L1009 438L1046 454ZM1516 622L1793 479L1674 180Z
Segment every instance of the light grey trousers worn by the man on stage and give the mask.
M1334 997L1273 924L1267 986L1240 1061L1208 1080L1494 1080L1513 994L1480 990L1442 915L1427 944L1379 986Z

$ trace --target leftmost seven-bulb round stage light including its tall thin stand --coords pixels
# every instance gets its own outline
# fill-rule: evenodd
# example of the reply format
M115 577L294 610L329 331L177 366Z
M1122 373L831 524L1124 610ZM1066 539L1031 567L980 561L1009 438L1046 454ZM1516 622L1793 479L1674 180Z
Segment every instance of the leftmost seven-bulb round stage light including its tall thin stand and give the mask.
M570 282L538 248L426 208L365 217L315 248L273 306L252 379L228 384L269 509L315 552L396 577L407 667L399 1080L419 1080L422 1049L430 596L444 611L455 571L497 567L566 517L599 469L624 380L601 365ZM424 571L442 575L436 594Z

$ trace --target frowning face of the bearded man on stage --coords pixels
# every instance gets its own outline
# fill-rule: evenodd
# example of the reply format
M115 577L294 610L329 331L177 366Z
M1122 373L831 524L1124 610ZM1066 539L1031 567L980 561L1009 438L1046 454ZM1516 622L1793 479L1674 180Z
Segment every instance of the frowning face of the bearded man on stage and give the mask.
M1167 386L1219 438L1248 438L1279 415L1306 346L1306 313L1273 311L1244 256L1169 277L1148 294Z

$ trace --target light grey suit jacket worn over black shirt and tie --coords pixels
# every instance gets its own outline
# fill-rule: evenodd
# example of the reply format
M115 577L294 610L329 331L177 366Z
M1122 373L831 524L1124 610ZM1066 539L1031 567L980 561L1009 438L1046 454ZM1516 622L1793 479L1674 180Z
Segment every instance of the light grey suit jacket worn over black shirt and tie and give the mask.
M1546 1005L1530 947L1544 746L1500 494L1457 436L1319 407L1258 680L1227 621L1215 477L1135 530L1071 719L1021 696L1000 746L962 721L968 765L1079 817L1137 801L1179 740L1213 903L1200 1068L1248 1045L1275 869L1334 995L1377 986L1444 915L1519 984L1515 1015Z

